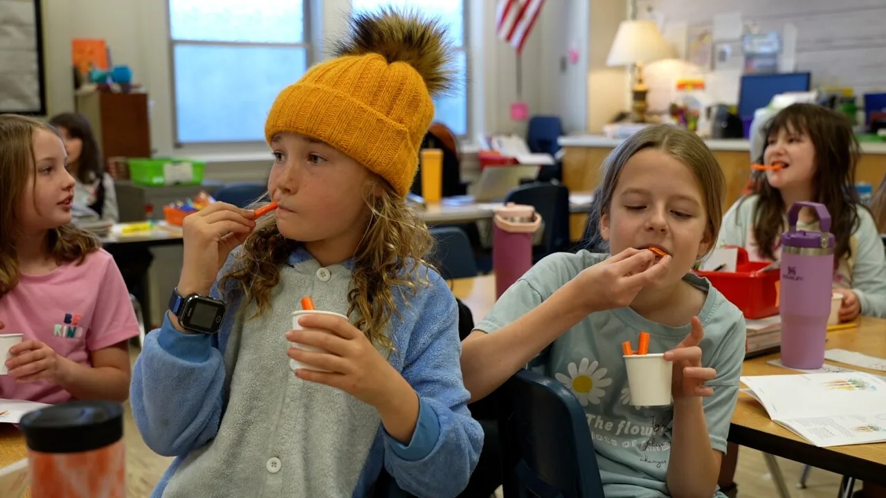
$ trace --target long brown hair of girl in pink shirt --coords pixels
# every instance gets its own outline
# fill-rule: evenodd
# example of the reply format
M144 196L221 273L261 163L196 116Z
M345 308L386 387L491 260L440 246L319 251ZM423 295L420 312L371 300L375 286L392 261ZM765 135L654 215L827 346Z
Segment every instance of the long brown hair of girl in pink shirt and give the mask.
M43 121L16 114L0 115L0 298L19 283L19 206L22 192L35 188L34 138L41 129L61 140L58 130ZM49 230L46 237L46 255L59 265L72 261L81 264L87 254L98 248L96 237L73 224Z

